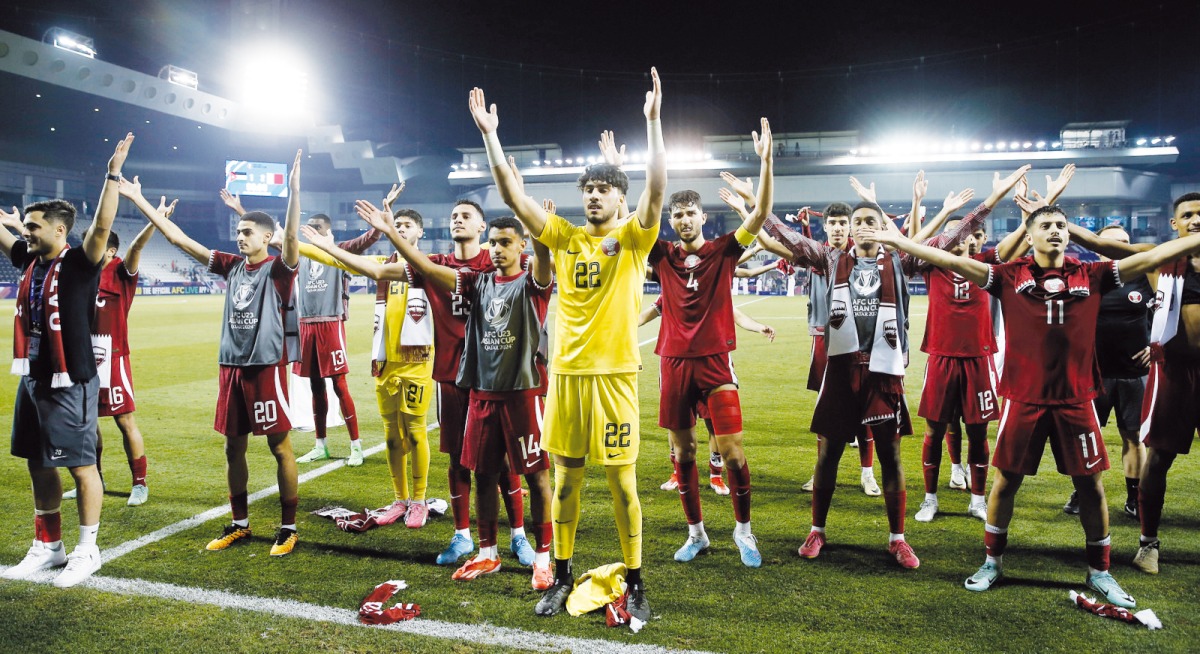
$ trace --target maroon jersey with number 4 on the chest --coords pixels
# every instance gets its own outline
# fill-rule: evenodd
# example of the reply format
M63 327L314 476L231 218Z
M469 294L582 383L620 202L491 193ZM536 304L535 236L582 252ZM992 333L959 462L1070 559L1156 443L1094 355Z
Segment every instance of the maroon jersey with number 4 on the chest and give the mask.
M731 352L733 336L733 269L745 246L734 233L706 241L696 252L659 240L650 266L662 286L662 323L654 353L695 358Z

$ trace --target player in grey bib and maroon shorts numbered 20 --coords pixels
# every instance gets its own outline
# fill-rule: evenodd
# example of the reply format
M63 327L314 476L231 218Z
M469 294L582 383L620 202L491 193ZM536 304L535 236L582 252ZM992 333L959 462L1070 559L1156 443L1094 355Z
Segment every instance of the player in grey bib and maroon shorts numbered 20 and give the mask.
M276 229L275 220L262 211L250 211L238 221L238 256L200 245L155 211L140 192L128 191L130 199L172 245L228 281L217 352L221 377L212 428L226 437L226 480L233 522L208 544L209 551L224 550L251 535L246 490L250 478L246 448L251 433L265 436L275 456L282 518L271 544L271 556L290 554L299 541L287 365L299 354L292 292L300 264L301 154L296 151L288 175L287 221L278 257L268 250Z

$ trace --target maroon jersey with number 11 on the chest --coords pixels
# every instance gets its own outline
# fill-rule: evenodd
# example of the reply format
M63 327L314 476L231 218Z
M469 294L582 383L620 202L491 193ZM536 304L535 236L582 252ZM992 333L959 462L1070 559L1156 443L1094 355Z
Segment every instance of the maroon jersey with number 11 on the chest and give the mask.
M1121 286L1117 262L1043 270L1032 258L991 266L1008 349L1000 395L1026 404L1078 404L1103 390L1096 361L1100 298Z

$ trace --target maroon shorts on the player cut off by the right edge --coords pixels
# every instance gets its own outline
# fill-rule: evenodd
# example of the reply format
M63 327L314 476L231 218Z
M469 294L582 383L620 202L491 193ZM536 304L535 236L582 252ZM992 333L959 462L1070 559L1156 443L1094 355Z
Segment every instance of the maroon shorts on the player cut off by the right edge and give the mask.
M1198 428L1200 361L1156 361L1141 403L1141 442L1164 452L1188 454Z

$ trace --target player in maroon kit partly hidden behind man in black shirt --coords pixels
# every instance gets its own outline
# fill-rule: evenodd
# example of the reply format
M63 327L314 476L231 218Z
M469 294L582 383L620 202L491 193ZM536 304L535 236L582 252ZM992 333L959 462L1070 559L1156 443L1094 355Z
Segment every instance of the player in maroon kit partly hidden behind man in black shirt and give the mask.
M126 186L137 186L138 178L132 184L118 186L124 196ZM158 203L158 211L168 218L175 210L175 203L167 204L167 198ZM150 498L146 486L146 455L142 431L133 419L133 368L130 365L130 307L138 289L138 265L142 260L142 248L154 238L154 224L146 224L134 236L122 260L116 256L121 246L116 232L108 233L108 248L104 250L104 269L100 275L100 292L96 296L96 322L91 329L91 346L100 367L100 416L110 415L121 431L125 445L125 457L133 475L130 490L128 506L139 506ZM96 431L96 469L103 475L101 451L103 434ZM103 476L101 476L103 479ZM76 490L67 491L62 498L76 497Z

